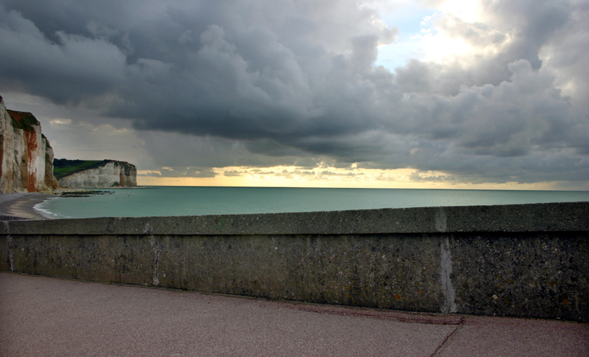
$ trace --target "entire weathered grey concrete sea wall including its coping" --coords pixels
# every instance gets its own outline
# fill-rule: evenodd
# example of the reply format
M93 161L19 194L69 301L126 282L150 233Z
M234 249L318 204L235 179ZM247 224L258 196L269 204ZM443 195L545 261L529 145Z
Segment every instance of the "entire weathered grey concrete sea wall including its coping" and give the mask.
M0 223L0 270L589 322L589 202Z

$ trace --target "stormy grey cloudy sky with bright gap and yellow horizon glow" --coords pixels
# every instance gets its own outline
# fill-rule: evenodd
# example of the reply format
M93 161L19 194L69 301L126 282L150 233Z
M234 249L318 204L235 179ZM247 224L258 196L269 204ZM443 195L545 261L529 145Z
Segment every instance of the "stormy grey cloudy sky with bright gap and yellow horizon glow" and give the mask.
M139 184L589 189L587 0L0 0L0 95Z

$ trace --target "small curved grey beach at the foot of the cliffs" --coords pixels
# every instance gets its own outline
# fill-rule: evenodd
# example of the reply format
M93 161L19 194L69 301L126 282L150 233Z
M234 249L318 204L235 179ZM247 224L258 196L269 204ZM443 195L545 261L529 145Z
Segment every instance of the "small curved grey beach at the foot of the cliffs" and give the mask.
M28 219L48 219L33 207L58 195L47 193L0 193L0 216Z

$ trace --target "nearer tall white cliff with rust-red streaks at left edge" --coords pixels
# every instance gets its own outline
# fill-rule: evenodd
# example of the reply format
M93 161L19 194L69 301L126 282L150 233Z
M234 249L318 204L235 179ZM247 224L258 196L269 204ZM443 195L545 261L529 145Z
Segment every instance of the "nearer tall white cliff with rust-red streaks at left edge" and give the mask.
M0 96L0 192L58 189L53 177L53 149L35 116L7 110Z

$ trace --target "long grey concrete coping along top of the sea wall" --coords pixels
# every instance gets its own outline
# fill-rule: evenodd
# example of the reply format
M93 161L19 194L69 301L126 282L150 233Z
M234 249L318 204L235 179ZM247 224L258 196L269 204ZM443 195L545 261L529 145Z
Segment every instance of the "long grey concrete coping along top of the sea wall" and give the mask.
M589 202L10 222L0 234L379 234L589 231Z

